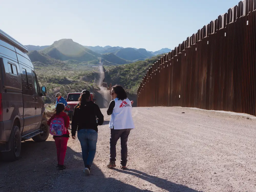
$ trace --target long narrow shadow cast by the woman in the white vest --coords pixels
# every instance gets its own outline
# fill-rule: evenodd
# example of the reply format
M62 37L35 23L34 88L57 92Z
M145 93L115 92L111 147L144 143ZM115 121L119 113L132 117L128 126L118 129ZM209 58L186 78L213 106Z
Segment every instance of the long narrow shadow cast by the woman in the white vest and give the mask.
M143 179L149 183L152 183L152 184L156 185L157 187L160 187L161 189L165 189L167 191L198 192L197 190L191 189L187 186L179 185L179 184L170 182L168 180L165 180L165 179L162 179L162 178L159 178L156 176L148 175L146 173L143 173L143 172L135 170L135 169L126 169L126 170L113 169L113 170L116 170L117 172L121 172L121 173L134 175L138 178L141 178L141 179Z

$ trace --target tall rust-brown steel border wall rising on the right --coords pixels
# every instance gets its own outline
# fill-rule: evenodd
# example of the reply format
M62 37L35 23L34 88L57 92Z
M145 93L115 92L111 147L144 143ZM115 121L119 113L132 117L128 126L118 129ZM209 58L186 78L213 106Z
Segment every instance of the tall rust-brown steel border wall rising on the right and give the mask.
M256 0L244 0L148 69L137 106L256 115Z

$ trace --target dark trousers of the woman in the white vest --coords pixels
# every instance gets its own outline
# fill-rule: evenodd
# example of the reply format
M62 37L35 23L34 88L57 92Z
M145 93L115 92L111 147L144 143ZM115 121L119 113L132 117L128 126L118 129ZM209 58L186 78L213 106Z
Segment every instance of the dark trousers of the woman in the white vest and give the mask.
M110 161L116 161L116 143L121 138L121 165L127 163L127 140L131 129L110 129Z

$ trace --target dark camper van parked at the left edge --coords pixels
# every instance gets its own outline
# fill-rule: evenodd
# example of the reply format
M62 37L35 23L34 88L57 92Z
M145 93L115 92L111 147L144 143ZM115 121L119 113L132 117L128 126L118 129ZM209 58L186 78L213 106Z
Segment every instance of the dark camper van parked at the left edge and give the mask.
M34 67L28 49L0 30L0 155L13 161L21 141L46 141L49 129Z

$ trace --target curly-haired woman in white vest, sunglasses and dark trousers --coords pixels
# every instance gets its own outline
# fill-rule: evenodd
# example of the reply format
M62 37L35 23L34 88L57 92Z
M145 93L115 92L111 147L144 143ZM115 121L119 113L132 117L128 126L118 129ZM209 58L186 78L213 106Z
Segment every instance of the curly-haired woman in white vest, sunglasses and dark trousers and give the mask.
M110 94L112 101L109 104L107 114L111 115L109 122L110 131L110 162L109 168L116 167L116 143L121 138L121 169L126 169L127 140L131 129L134 129L132 119L132 103L121 85L112 87Z

